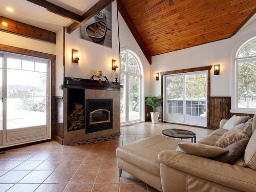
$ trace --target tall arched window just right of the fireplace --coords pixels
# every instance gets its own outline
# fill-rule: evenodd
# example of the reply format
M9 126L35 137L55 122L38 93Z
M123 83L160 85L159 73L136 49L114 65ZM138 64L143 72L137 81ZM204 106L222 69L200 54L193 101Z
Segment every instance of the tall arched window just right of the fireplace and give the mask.
M141 120L141 69L139 58L130 50L121 51L121 123Z

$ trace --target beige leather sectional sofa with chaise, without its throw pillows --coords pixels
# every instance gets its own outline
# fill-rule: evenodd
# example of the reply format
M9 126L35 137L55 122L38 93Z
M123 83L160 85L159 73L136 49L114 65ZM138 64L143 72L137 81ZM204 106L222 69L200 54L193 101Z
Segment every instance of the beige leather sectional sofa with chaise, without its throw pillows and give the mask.
M214 131L199 143L215 145L227 120L222 120L220 129ZM256 117L252 130L256 129ZM118 167L152 187L168 191L256 191L256 170L245 168L244 158L233 165L188 155L175 151L179 142L161 135L123 145L117 148ZM255 145L252 145L255 143ZM248 145L249 152L256 152L256 131ZM248 148L247 145L247 148ZM246 155L246 153L245 153ZM246 159L246 158L245 158ZM255 163L256 161L251 161Z

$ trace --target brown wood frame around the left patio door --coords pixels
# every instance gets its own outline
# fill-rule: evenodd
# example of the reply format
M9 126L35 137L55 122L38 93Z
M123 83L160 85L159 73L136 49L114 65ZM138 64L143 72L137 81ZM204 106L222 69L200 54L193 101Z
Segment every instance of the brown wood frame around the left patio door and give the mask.
M53 54L48 54L48 53L43 53L39 51L33 51L29 49L23 49L23 48L18 48L18 47L13 47L13 46L8 46L4 44L0 44L0 51L4 52L9 52L9 53L15 53L15 54L20 54L20 55L27 55L27 56L32 56L32 57L38 57L38 58L44 58L44 59L49 59L51 61L51 66L50 66L50 126L51 126L51 139L54 138L55 135L55 62L56 62L56 55Z

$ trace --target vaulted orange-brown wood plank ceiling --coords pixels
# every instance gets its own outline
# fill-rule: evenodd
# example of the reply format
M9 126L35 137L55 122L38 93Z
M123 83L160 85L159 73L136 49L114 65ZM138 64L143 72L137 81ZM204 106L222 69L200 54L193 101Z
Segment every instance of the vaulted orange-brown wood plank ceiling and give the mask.
M229 38L255 0L121 0L152 56Z

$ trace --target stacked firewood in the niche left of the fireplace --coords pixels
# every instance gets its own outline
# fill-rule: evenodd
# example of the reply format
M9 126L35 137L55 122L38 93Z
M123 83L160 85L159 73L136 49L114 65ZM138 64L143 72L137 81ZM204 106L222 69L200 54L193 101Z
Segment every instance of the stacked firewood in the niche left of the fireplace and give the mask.
M73 110L69 114L69 131L82 128L84 124L83 105L81 103L72 103Z

